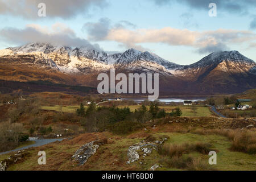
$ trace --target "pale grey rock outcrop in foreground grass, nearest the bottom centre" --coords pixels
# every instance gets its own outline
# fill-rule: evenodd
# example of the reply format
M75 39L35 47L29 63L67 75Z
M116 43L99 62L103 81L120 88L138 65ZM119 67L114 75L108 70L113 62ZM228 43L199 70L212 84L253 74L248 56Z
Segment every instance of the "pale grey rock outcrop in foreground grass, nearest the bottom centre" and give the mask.
M127 156L129 158L127 164L133 163L138 160L140 151L143 153L143 158L151 154L153 150L158 151L158 147L166 140L168 140L167 137L162 137L159 140L156 140L155 137L148 137L146 138L146 140L130 146L127 151Z

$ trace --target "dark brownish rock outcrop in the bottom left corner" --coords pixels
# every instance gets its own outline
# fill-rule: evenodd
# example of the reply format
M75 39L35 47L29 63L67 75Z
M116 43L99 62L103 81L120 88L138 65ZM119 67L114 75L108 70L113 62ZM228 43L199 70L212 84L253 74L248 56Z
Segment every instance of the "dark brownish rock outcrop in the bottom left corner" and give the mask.
M11 155L8 159L2 160L2 162L0 162L0 171L6 171L11 165L22 162L27 155L28 154L22 150L18 151L14 155Z

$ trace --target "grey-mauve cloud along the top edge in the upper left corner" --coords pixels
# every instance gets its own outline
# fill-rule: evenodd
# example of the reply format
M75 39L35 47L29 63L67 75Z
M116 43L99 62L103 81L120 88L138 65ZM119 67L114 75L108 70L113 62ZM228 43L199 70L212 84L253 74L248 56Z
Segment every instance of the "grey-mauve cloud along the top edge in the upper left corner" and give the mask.
M0 0L0 14L37 19L38 4L46 4L46 15L50 18L72 18L80 13L88 13L92 7L105 7L106 0Z

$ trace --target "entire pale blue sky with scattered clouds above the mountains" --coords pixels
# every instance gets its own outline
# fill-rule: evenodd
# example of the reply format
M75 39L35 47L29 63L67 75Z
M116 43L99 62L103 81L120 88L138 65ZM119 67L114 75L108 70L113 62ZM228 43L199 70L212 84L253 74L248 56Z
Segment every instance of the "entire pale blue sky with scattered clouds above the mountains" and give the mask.
M0 49L135 48L182 65L237 50L256 60L256 0L0 0L0 22Z

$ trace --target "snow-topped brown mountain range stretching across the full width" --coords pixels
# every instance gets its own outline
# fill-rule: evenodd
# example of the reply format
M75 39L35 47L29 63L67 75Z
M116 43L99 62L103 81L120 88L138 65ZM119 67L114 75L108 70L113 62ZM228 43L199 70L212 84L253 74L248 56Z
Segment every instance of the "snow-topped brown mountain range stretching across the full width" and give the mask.
M1 50L0 64L5 67L5 70L0 69L0 80L40 80L36 73L28 73L30 69L26 72L23 69L33 67L40 72L47 71L44 74L46 80L46 75L54 80L51 75L55 72L54 75L65 75L61 76L63 80L69 77L69 82L73 80L74 85L96 86L99 73L108 73L110 68L115 68L127 73L159 73L160 88L166 94L236 93L256 88L256 63L238 51L214 52L197 63L179 65L154 53L135 49L108 55L92 46L72 48L31 43Z

